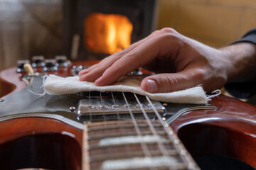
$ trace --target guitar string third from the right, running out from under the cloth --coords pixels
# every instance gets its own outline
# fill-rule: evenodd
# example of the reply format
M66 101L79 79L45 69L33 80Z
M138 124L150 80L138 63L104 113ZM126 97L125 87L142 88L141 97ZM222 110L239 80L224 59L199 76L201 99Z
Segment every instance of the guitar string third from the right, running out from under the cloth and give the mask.
M132 118L132 123L134 124L134 128L135 128L135 130L136 130L136 132L137 132L137 135L139 135L140 137L142 137L142 132L141 132L141 130L139 129L139 126L138 126L138 124L137 124L137 122L136 122L136 119L134 118L134 114L132 113L132 109L131 109L130 106L129 106L129 103L128 103L128 101L127 101L127 98L126 98L125 95L124 95L124 92L122 92L122 95L124 96L124 101L125 101L125 103L127 104L128 111L129 111L129 115L130 115L131 118ZM141 145L142 145L142 150L143 150L145 156L146 156L146 157L151 157L151 154L150 154L150 152L149 152L149 148L148 148L147 145L146 145L146 142L142 142Z

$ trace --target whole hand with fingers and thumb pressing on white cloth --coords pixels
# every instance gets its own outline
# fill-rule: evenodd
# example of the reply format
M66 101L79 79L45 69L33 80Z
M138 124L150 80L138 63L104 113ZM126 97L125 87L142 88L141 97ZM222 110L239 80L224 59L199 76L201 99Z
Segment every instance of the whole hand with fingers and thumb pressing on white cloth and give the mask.
M205 91L213 91L225 84L228 62L222 50L164 28L82 70L79 77L80 81L105 86L138 67L146 67L159 73L143 79L141 88L149 93L178 91L199 84Z

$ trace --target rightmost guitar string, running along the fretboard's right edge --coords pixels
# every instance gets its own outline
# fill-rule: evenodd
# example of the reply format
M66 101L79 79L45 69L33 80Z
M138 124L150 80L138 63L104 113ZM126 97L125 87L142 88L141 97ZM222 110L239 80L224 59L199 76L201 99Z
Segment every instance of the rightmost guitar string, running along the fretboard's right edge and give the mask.
M157 118L159 119L161 125L163 126L164 130L165 130L166 133L168 134L169 138L170 138L172 141L174 141L174 140L175 140L175 139L174 139L174 136L169 134L169 131L166 129L166 126L165 126L166 123L164 123L164 120L162 120L161 115L159 114L158 111L156 111L156 108L154 107L153 103L151 102L151 100L150 100L150 98L149 98L148 96L146 96L146 100L149 101L150 106L153 108L154 112L156 113ZM167 125L168 125L168 124L167 124ZM183 162L186 162L187 164L189 164L190 160L187 159L187 157L183 157L183 156L181 155L181 148L178 147L178 145L176 145L175 142L174 142L174 147L175 147L175 149L178 151L178 154L180 154L181 159L183 159Z

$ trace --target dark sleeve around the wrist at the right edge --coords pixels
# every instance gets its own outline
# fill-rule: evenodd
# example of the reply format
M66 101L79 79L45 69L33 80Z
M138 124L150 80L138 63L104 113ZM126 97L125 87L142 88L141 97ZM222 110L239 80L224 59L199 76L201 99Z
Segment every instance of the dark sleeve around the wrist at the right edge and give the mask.
M240 40L232 44L238 42L250 42L256 45L256 28L247 32ZM256 94L256 79L254 81L225 84L225 89L237 98L250 98Z

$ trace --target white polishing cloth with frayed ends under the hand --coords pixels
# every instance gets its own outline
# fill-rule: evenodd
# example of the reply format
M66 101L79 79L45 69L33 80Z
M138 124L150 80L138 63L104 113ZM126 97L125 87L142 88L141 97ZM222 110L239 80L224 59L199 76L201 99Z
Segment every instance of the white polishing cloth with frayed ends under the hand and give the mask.
M140 84L144 79L143 76L125 76L121 77L116 83L110 86L95 86L92 82L79 81L79 77L57 77L49 75L44 81L44 88L47 94L76 94L82 91L122 91L132 92L148 96L155 101L163 101L169 103L195 103L206 104L208 96L203 91L202 86L196 86L182 91L174 91L170 93L150 94L140 88Z

